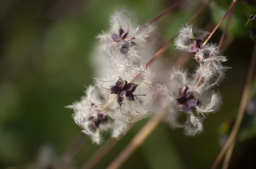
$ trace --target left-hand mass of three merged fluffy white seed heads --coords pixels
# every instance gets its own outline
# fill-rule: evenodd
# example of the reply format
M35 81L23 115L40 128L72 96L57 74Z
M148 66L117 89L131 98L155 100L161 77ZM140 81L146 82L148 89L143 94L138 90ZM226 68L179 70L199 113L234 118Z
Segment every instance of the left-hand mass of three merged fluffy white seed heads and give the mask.
M153 75L141 60L148 58L145 47L155 45L153 26L139 31L132 12L125 9L115 12L109 23L109 30L97 36L92 54L97 73L94 85L87 87L80 101L66 106L74 110L82 132L97 144L108 134L119 138L129 123L147 117Z

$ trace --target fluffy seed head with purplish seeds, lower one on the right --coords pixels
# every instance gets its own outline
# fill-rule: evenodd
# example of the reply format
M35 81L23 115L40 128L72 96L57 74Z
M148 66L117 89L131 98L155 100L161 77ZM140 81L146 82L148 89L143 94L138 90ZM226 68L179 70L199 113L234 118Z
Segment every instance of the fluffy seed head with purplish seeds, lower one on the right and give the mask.
M157 91L166 102L165 106L169 107L164 121L171 127L183 128L186 135L199 134L203 131L203 118L216 110L220 103L219 95L208 91L205 94L195 93L186 71L174 70L170 77L168 86L157 85ZM182 120L184 115L185 122Z

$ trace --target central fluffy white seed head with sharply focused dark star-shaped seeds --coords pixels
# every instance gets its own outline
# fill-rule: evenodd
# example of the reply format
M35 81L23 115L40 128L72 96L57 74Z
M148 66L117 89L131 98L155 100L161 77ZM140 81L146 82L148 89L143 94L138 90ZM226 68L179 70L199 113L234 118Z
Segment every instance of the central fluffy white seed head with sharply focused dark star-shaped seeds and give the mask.
M151 83L152 73L143 66L113 58L109 63L109 76L97 79L97 84L104 94L114 94L120 106L119 114L129 122L134 122L147 115L146 94L143 89Z

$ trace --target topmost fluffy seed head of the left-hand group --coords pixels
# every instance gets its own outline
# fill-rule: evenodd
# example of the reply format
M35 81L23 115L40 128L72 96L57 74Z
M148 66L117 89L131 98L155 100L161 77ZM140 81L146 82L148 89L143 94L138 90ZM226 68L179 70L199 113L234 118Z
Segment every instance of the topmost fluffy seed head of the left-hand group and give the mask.
M111 55L118 54L131 61L137 61L140 56L140 49L148 47L145 45L147 38L154 31L153 26L139 31L139 26L133 16L133 12L126 9L115 12L110 19L110 29L97 37L100 39L102 50ZM99 48L100 49L100 48Z

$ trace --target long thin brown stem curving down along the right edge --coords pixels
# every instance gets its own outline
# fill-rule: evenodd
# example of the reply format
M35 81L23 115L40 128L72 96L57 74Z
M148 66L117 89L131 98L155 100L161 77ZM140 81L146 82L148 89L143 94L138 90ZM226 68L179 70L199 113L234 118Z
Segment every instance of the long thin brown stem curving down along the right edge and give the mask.
M234 141L234 138L237 136L237 132L239 130L239 127L240 127L241 122L242 122L243 117L244 117L244 110L246 108L246 104L247 104L247 101L248 101L248 95L250 94L249 89L250 89L251 79L252 79L253 73L254 73L255 63L256 63L256 44L254 44L254 49L253 49L253 53L252 53L252 56L251 56L250 66L249 66L249 70L248 70L248 73L247 73L246 82L245 82L245 85L244 85L244 91L243 91L243 94L242 94L242 98L241 98L241 102L240 102L239 109L238 109L238 112L237 112L237 118L236 118L236 121L234 123L234 127L233 127L225 145L223 146L222 150L217 155L211 169L216 169L217 165L220 163L220 160L225 155L227 149L229 148L229 146Z

